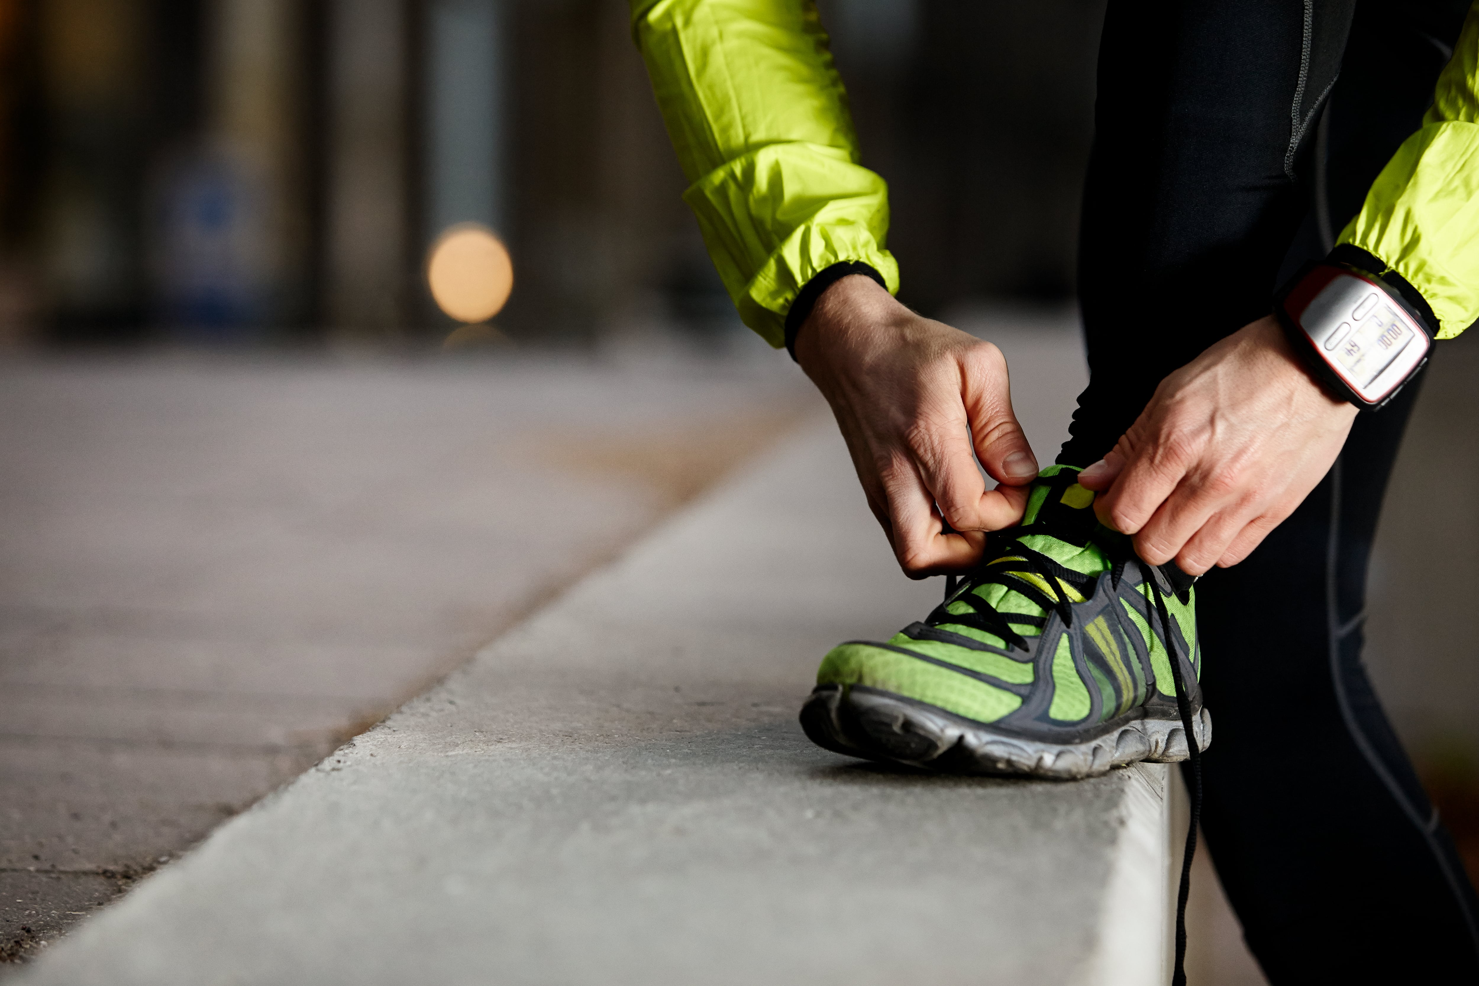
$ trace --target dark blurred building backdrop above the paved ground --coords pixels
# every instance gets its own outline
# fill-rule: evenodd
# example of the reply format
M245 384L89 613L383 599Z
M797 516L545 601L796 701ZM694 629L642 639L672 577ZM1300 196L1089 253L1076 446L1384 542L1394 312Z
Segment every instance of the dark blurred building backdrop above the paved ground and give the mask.
M904 297L1072 285L1097 0L819 0ZM422 265L509 242L498 318L732 324L626 0L0 0L0 339L439 339Z

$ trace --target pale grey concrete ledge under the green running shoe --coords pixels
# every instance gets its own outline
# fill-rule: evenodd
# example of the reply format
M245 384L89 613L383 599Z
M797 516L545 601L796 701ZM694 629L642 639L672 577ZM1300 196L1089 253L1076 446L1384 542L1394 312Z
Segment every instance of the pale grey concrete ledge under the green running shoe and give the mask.
M818 656L936 602L818 420L200 849L21 983L1146 983L1165 767L862 766Z

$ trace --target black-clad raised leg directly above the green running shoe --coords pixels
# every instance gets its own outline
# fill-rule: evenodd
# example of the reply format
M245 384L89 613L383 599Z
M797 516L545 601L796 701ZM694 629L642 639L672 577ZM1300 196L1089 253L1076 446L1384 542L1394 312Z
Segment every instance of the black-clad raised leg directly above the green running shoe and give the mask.
M1334 77L1309 53L1349 24L1328 6L1306 46L1297 3L1111 3L1078 259L1090 383L1060 463L1097 460L1170 371L1268 315L1306 210L1291 155L1313 127L1291 118Z

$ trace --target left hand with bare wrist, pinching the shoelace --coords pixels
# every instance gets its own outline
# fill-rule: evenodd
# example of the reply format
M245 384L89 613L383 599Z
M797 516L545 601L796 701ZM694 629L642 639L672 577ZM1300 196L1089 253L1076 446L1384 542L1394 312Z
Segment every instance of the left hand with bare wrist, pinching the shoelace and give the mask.
M916 315L855 275L818 299L796 359L831 404L868 506L910 578L969 568L985 531L1022 519L1037 460L1012 414L1000 349ZM972 451L1003 485L986 489Z

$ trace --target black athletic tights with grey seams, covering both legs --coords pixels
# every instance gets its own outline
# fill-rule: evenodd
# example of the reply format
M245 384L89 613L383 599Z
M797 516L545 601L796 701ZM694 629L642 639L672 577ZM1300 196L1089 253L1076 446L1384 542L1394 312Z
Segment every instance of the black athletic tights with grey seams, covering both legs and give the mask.
M1092 378L1059 461L1100 458L1162 377L1324 254L1321 108L1338 234L1420 126L1466 7L1111 1L1080 256ZM1473 890L1361 664L1367 557L1417 390L1362 414L1294 516L1198 585L1202 826L1276 985L1479 982Z

